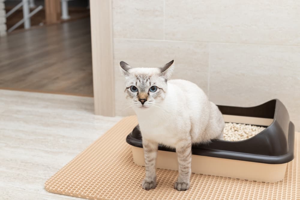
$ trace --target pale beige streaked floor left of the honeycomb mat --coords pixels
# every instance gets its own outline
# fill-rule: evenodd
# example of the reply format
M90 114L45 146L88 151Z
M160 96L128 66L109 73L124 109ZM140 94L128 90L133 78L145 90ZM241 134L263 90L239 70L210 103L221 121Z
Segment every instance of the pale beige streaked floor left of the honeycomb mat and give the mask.
M120 119L91 97L0 90L0 199L77 199L44 182Z

